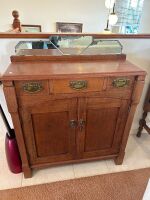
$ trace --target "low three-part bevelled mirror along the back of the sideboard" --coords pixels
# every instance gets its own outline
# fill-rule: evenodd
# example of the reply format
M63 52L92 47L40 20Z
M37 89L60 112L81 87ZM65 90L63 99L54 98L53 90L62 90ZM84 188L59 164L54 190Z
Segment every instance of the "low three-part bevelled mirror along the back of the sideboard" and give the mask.
M122 49L121 43L117 40L100 40L92 36L57 35L43 41L20 41L15 47L15 52L17 56L108 55L121 54Z

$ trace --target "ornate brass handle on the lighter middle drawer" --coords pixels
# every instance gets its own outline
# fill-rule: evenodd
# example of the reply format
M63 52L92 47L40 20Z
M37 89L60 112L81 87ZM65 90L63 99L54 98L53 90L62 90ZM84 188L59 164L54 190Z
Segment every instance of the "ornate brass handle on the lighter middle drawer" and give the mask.
M70 81L69 86L74 90L83 90L86 89L88 82L85 80L81 81Z

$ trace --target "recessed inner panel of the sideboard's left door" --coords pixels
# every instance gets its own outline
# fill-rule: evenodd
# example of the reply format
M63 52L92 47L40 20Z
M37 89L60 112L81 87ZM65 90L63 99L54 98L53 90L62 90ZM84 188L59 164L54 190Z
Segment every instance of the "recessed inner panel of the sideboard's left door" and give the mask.
M34 114L32 121L39 157L67 154L69 147L67 112Z

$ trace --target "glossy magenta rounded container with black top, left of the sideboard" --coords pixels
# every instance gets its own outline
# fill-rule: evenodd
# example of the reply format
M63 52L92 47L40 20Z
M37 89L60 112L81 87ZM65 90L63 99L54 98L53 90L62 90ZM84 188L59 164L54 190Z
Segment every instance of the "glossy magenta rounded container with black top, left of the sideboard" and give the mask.
M14 174L22 172L22 163L15 134L6 134L5 152L10 171Z

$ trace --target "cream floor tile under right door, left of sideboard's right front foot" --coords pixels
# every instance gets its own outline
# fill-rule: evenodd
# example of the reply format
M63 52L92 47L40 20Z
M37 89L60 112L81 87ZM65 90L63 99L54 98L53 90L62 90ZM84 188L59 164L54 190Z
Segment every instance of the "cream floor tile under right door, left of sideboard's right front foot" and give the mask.
M106 161L93 161L81 164L74 164L75 177L94 176L98 174L107 174L109 172Z

